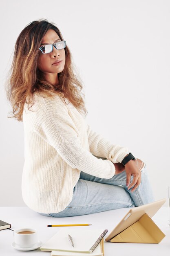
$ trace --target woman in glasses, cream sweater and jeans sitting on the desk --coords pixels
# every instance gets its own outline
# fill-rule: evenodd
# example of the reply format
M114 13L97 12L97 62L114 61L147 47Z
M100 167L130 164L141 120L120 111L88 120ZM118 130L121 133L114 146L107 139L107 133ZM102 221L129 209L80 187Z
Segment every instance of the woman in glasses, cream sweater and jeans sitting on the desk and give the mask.
M24 202L53 217L153 202L146 165L86 124L81 90L60 30L45 19L29 23L7 88L13 117L24 124Z

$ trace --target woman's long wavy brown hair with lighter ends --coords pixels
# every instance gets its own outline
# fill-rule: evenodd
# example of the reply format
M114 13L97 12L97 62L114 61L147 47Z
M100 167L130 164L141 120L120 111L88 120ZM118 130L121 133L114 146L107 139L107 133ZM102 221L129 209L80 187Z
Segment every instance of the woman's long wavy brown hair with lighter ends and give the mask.
M11 113L18 121L23 121L24 103L35 103L34 93L40 92L42 97L53 97L60 94L67 98L79 112L87 115L85 108L82 80L76 75L72 55L68 46L64 48L66 61L64 70L58 73L58 84L46 81L44 73L38 69L38 57L42 38L49 29L53 29L61 40L64 40L55 23L46 19L30 22L19 34L15 43L15 50L9 77L6 80L7 99L13 108ZM31 108L31 106L29 108ZM29 109L28 108L28 109ZM9 117L9 118L11 118Z

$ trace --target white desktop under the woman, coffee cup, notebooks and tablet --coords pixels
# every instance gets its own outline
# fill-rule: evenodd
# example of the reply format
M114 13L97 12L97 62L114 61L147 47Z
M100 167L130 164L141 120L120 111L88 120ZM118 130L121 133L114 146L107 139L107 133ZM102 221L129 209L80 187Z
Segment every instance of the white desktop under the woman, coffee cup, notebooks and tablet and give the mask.
M124 217L128 208L105 211L91 215L53 218L42 216L28 207L0 207L0 220L12 225L11 229L31 227L38 230L39 240L43 243L51 238L61 227L46 227L50 224L89 223L92 226L70 227L70 229L108 229L106 236ZM161 207L152 217L152 220L166 235L159 244L135 244L135 243L104 243L105 256L160 256L170 255L170 227L168 226L168 207ZM62 227L63 229L64 227ZM67 227L68 228L68 227ZM0 255L50 256L51 252L42 252L40 248L34 251L18 251L11 247L13 231L7 229L0 231Z

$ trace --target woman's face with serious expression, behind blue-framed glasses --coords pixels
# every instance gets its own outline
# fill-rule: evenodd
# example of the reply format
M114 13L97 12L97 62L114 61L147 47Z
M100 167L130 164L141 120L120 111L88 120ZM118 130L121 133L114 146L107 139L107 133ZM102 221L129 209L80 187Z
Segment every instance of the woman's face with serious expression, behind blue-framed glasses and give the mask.
M57 33L53 29L49 29L42 38L42 44L40 46L53 44L59 41L61 41L61 39ZM62 72L64 69L65 59L66 56L64 49L57 50L55 47L53 47L53 51L47 54L43 54L40 51L38 58L38 69L46 73L48 77L57 76L57 74ZM62 60L60 65L53 65L53 63L57 60Z

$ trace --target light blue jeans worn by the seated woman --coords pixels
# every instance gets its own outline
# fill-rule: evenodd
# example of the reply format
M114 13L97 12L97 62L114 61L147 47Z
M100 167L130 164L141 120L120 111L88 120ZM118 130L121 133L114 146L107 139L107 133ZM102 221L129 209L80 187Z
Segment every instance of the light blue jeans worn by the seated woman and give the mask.
M133 176L131 176L132 182ZM141 171L141 183L131 192L126 186L126 172L102 179L81 172L73 190L73 198L68 206L59 213L40 213L51 217L79 216L125 207L137 207L154 202L154 195L146 165Z

